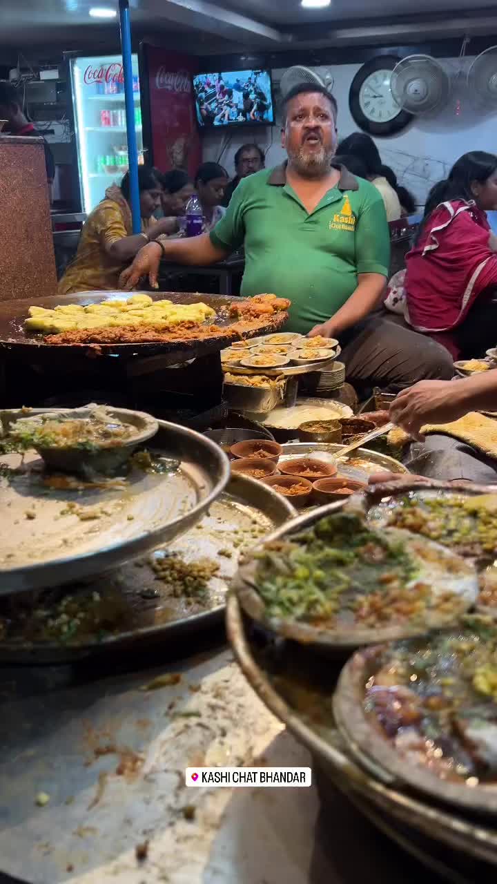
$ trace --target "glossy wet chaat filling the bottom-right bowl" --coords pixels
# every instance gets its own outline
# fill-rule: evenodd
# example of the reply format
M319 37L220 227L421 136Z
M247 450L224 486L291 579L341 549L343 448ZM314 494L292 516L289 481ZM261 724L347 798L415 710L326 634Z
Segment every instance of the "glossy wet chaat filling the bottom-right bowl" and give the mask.
M440 779L497 781L497 626L385 645L364 685L363 709L406 763Z

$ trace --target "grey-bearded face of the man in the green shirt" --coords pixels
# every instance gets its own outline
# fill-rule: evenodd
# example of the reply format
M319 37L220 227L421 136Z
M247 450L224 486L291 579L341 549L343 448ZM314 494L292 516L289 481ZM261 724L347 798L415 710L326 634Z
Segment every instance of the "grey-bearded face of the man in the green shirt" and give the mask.
M337 146L333 106L320 92L295 95L287 103L287 121L281 145L304 177L325 175Z

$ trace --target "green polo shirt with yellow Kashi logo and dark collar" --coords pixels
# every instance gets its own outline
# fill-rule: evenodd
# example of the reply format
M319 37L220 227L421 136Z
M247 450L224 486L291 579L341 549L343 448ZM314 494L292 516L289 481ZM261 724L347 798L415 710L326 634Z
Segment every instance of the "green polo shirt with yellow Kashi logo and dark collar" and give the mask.
M348 301L358 273L387 276L390 261L381 195L344 166L310 213L287 184L286 165L249 175L210 240L230 252L244 246L241 293L289 298L287 328L304 334Z

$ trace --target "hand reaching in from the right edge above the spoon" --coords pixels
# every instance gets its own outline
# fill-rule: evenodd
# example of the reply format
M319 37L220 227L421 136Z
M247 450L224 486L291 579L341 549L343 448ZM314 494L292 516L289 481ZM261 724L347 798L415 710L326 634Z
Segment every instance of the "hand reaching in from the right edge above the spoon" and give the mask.
M402 390L390 406L390 420L413 438L423 441L424 423L448 423L469 410L461 381L420 381Z

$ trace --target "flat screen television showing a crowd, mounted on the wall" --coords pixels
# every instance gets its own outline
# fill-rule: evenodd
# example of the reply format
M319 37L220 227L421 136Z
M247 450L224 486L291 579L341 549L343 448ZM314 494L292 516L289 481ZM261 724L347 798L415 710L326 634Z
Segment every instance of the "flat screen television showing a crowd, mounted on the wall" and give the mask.
M274 124L269 71L197 73L194 93L196 118L203 129Z

